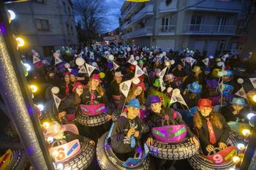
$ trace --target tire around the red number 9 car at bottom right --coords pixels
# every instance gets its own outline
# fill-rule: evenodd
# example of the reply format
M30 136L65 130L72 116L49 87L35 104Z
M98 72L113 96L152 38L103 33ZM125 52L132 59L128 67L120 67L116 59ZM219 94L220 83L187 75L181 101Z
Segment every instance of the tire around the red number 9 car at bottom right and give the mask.
M231 132L229 138L227 139L227 144L232 144L236 146L239 142L243 143L244 139L236 134L235 132ZM237 149L238 153L238 149ZM215 169L230 169L235 165L235 163L231 160L228 161L227 163L223 164L213 164L213 163L208 163L203 160L203 158L200 158L197 154L192 156L191 158L188 159L189 164L192 166L193 169L196 170L215 170Z

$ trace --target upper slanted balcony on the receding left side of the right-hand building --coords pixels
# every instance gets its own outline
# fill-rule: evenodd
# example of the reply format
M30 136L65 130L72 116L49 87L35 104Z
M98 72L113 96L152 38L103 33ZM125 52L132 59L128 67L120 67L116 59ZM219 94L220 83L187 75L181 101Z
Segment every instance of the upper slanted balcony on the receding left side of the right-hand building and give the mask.
M146 7L143 7L143 9L137 12L137 14L132 16L130 21L127 21L126 23L124 23L122 28L123 29L128 28L129 26L132 26L132 24L136 23L141 18L144 18L148 15L154 15L153 7L154 7L153 4L147 4Z

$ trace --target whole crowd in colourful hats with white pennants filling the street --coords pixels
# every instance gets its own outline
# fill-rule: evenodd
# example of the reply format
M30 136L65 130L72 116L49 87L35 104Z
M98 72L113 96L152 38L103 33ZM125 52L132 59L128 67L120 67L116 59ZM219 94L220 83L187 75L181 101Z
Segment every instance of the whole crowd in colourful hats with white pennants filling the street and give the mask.
M40 59L35 51L32 55ZM60 59L59 63L56 58ZM82 65L77 58L83 58L96 69L91 72L86 67L86 71L81 72ZM80 134L95 143L110 129L113 113L118 115L110 136L111 145L118 158L125 161L134 157L140 142L150 145L154 140L151 131L141 133L141 110L146 111L143 122L149 129L184 124L187 137L200 145L204 154L214 147L224 150L230 133L227 123L247 121L249 105L243 95L235 95L242 85L234 69L242 63L243 59L237 55L207 56L197 50L94 45L79 50L59 50L53 54L48 69L45 63L38 66L36 62L34 67L43 75L42 81L60 89L59 120L77 124ZM143 74L138 74L138 69ZM132 84L126 87L129 90L126 95L122 93L125 87L121 87L121 83L127 80L132 80ZM181 101L173 101L177 91ZM105 104L110 121L95 127L79 125L76 115L80 104ZM154 159L158 162L156 169L170 169L172 165L170 161Z

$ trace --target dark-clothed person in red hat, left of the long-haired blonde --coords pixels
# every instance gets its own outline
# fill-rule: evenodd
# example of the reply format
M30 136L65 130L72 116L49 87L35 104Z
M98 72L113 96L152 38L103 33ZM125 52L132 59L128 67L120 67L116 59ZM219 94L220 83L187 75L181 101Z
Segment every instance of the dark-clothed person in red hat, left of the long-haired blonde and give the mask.
M59 118L64 122L72 122L75 120L75 112L81 104L81 95L85 85L80 82L75 82L72 88L72 92L69 96L64 98L59 105Z

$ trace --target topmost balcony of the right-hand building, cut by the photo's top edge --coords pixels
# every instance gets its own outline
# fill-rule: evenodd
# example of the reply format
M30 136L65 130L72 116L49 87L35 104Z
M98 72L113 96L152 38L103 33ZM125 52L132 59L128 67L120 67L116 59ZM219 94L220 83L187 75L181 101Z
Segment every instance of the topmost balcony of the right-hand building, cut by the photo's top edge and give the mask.
M241 12L243 8L243 4L241 0L233 0L233 1L211 0L211 1L204 1L203 3L200 3L200 1L201 0L187 0L187 7L189 8L188 10L203 10L203 11L211 11L211 12L214 12L214 11L215 12Z

